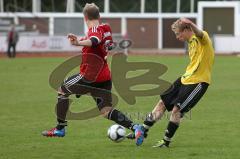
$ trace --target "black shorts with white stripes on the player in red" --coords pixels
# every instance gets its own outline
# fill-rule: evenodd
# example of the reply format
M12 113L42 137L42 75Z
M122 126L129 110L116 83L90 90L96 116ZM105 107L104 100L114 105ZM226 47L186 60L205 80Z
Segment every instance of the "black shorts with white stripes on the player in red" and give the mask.
M67 78L61 86L64 93L71 95L90 94L101 110L103 107L112 106L112 81L89 82L81 74Z

